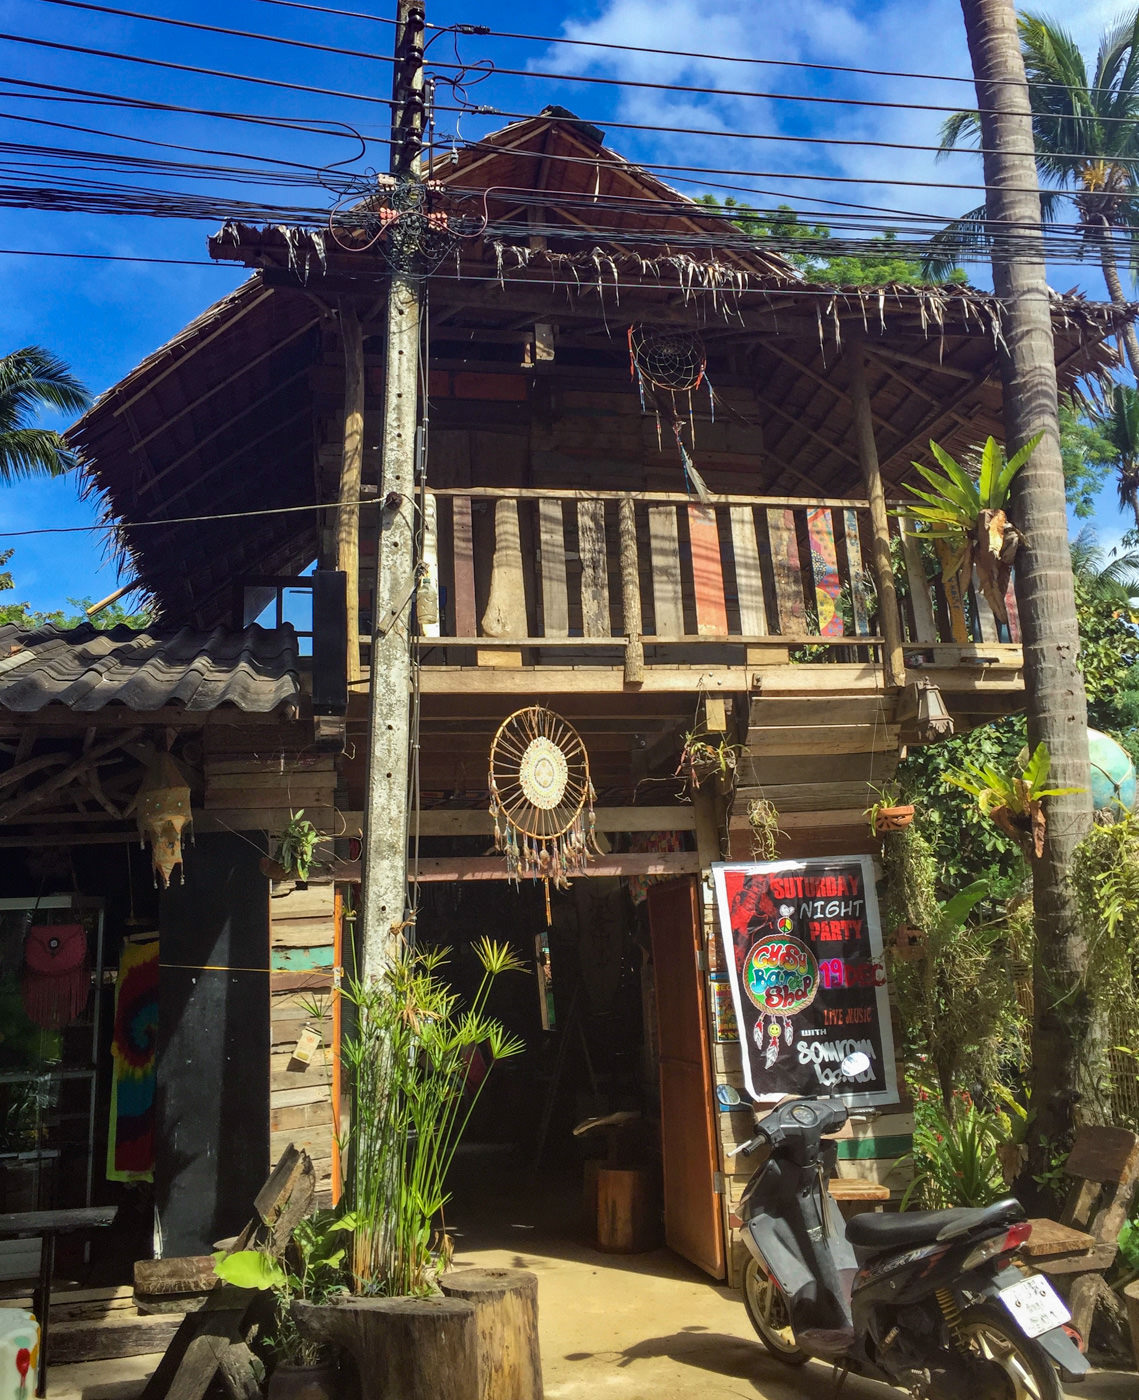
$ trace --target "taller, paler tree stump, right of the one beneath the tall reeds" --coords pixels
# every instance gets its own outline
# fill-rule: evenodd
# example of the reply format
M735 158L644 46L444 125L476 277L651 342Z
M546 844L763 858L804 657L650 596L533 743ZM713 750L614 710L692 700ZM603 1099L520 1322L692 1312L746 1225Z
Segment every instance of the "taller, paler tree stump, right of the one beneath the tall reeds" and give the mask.
M525 1268L459 1268L444 1274L439 1288L474 1305L479 1400L542 1400L537 1275Z

